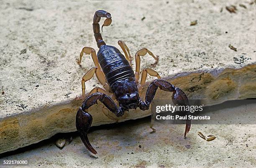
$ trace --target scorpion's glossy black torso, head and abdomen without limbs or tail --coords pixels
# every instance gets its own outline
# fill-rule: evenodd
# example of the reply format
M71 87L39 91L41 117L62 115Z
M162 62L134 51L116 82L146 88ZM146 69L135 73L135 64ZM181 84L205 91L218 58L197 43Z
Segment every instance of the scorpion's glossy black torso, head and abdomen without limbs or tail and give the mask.
M135 109L139 103L138 86L127 59L117 48L108 45L100 46L97 58L119 106Z

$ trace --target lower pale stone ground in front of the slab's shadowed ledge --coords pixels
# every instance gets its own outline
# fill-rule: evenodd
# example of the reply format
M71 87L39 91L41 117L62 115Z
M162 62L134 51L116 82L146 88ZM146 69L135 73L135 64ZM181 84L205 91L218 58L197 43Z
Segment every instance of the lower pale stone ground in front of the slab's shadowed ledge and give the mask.
M256 104L219 109L235 121L241 113L255 114ZM251 116L251 118L253 118ZM26 160L33 167L255 167L256 125L192 125L184 139L184 125L155 123L156 133L149 128L150 117L119 124L96 126L88 134L98 154L93 155L82 144L77 133L62 133L49 140L0 155L4 160ZM255 122L255 115L254 115ZM197 135L217 136L205 141ZM64 148L55 146L57 138L73 136Z

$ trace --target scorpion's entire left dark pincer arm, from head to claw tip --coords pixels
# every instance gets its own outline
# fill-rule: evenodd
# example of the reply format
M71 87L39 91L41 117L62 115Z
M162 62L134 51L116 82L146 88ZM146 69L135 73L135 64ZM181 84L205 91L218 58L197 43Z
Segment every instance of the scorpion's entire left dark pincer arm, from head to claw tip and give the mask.
M94 154L97 154L97 151L92 147L87 137L87 133L92 125L92 115L87 112L87 109L89 109L90 106L97 104L97 100L101 101L116 116L122 116L124 114L124 110L120 107L118 108L115 102L106 94L97 92L91 94L84 100L82 107L77 111L76 128L86 148Z

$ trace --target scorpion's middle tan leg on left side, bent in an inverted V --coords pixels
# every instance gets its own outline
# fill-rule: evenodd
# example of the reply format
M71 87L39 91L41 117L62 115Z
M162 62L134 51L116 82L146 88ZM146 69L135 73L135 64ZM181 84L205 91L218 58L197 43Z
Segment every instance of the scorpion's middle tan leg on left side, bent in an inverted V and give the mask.
M92 79L93 75L96 73L97 79L103 85L106 90L109 90L109 85L106 82L105 76L103 73L98 69L98 67L91 68L84 76L82 77L82 96L85 97L85 82Z

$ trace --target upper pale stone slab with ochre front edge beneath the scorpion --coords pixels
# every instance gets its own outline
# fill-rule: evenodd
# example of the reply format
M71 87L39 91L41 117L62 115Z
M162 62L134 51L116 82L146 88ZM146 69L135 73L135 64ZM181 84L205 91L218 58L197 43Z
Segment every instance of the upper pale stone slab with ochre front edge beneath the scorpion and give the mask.
M119 48L118 40L124 40L133 55L143 47L159 55L155 67L153 58L142 57L141 70L155 69L190 99L208 99L210 105L256 97L254 4L243 2L245 9L239 3L1 3L0 153L76 130L81 78L94 64L87 55L82 67L75 59L84 46L97 50L92 17L99 9L110 12L113 19L102 33L107 44ZM228 12L226 5L236 5L237 12ZM197 25L190 26L194 20ZM95 86L100 84L94 77L86 83L86 91ZM141 97L145 91L146 87ZM163 97L171 95L158 91L156 99ZM93 126L117 122L101 111L102 104L90 109ZM150 111L129 111L119 121L148 115Z

